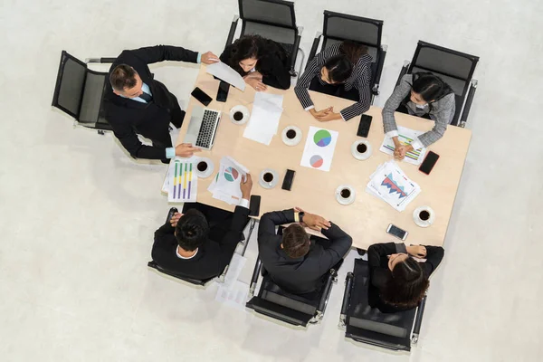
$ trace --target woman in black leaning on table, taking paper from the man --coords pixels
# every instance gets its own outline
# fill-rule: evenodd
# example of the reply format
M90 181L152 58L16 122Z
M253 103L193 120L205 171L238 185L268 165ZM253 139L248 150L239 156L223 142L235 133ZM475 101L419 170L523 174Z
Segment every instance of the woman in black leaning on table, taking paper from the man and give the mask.
M289 57L279 43L260 35L245 35L228 45L220 56L221 62L237 71L255 90L291 88Z

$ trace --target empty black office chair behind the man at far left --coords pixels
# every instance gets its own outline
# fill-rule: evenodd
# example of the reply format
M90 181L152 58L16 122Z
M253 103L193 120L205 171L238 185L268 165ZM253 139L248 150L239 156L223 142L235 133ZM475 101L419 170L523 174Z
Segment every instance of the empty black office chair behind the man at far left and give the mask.
M114 62L115 58L92 58L86 62ZM74 126L97 129L100 135L112 130L102 109L108 73L91 71L86 62L62 51L52 96L52 106L75 119Z

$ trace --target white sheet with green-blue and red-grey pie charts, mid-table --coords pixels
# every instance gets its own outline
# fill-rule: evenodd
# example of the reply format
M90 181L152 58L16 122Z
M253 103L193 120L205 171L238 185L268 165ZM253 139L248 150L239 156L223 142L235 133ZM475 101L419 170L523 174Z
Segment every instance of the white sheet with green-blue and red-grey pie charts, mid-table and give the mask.
M335 130L310 127L300 165L321 171L329 171L332 166L334 150L338 143L338 135L339 133Z

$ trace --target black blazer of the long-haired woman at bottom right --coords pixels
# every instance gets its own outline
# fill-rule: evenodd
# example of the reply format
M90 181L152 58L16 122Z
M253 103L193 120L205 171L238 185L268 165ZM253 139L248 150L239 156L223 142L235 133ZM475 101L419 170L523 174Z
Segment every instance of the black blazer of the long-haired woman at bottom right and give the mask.
M426 248L426 262L421 262L426 278L437 268L443 260L444 250L441 246L424 245ZM369 264L370 285L368 291L369 305L378 308L383 313L410 310L387 304L380 298L380 291L386 286L386 282L392 278L392 272L388 269L390 254L406 252L404 243L374 243L367 249L367 263Z

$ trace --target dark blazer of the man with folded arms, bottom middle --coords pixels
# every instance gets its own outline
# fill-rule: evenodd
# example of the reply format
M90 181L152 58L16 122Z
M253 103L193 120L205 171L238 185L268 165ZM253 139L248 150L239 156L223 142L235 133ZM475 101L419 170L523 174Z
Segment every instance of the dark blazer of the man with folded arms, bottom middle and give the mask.
M282 236L275 233L275 225L294 223L294 210L263 214L258 228L258 250L262 265L271 279L286 291L310 293L319 288L320 278L348 252L352 238L332 224L322 234L329 238L330 247L311 242L310 252L291 259L281 249Z

